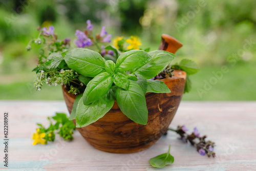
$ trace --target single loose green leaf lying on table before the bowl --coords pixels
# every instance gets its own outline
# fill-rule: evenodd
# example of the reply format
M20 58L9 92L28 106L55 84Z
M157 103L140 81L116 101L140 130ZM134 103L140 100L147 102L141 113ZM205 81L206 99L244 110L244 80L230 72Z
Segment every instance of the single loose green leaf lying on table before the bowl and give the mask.
M164 167L167 164L173 164L174 157L170 155L170 145L167 153L161 154L150 159L150 164L154 167Z

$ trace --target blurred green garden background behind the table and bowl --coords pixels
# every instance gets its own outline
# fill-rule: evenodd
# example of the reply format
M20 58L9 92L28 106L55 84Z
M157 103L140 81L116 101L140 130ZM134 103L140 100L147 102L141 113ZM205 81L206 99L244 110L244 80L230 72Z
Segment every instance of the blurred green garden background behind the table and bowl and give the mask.
M176 53L200 71L183 100L256 100L256 1L254 0L1 0L0 99L61 100L61 88L33 88L38 47L27 52L37 26L55 27L60 39L86 28L90 19L115 36L138 35L142 48L158 49L161 34L180 40ZM226 66L226 72L222 67Z

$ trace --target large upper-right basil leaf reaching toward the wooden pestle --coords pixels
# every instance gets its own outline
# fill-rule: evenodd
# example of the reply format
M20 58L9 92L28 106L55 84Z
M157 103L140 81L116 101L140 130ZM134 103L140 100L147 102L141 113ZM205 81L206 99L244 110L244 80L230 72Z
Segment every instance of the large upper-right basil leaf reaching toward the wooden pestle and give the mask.
M151 79L163 71L174 59L174 54L156 50L148 53L151 58L140 68L133 70L133 74L142 79Z

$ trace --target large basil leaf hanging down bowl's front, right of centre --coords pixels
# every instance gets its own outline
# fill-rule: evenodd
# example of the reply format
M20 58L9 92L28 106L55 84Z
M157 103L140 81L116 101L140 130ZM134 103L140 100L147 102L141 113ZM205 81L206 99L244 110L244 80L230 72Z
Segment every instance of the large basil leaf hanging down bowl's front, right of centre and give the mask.
M138 83L130 80L128 90L118 87L114 90L114 94L116 102L124 115L136 123L146 125L148 113L146 99Z

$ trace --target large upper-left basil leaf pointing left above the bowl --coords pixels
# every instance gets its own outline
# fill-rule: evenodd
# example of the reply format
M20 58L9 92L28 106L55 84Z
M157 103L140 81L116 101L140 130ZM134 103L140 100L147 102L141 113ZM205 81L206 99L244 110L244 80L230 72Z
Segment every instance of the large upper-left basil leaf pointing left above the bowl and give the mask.
M84 76L95 77L105 72L105 59L90 49L75 48L62 52L61 55L71 69Z

